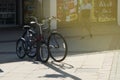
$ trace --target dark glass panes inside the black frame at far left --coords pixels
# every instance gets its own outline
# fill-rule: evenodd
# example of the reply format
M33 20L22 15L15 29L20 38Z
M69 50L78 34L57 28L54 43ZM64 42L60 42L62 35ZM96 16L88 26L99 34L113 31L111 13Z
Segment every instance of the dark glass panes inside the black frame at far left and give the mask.
M16 0L0 0L0 25L16 24Z

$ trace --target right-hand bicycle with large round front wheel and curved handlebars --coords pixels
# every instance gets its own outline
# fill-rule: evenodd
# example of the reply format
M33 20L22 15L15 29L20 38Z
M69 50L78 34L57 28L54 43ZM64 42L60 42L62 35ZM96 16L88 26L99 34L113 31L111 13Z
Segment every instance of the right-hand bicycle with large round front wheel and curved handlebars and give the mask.
M47 47L49 55L54 61L61 62L67 56L68 47L66 40L60 33L57 32L57 30L50 30L51 21L54 19L60 21L58 18L52 16L44 19L43 25L47 24L48 26Z

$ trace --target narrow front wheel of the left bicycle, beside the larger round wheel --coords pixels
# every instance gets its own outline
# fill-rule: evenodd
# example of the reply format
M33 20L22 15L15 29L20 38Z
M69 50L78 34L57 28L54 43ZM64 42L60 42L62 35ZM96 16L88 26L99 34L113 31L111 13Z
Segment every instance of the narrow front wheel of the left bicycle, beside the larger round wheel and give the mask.
M40 60L42 63L46 63L49 60L49 53L48 53L48 47L46 44L41 44L39 46L39 52L38 52L38 60Z

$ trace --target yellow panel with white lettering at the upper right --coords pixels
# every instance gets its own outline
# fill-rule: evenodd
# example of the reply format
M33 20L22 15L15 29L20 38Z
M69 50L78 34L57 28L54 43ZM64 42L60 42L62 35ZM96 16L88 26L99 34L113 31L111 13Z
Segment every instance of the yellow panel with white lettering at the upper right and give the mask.
M116 0L94 0L95 16L99 22L116 20Z

